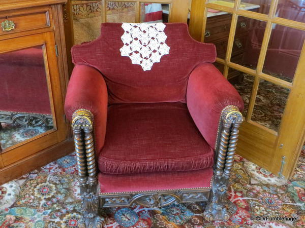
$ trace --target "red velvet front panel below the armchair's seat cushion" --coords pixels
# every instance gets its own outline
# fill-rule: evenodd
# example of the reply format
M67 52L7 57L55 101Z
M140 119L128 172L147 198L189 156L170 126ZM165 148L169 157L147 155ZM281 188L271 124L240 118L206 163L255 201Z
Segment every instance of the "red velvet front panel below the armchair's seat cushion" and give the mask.
M211 187L212 167L185 172L157 172L140 174L99 173L100 193L171 190L179 188Z

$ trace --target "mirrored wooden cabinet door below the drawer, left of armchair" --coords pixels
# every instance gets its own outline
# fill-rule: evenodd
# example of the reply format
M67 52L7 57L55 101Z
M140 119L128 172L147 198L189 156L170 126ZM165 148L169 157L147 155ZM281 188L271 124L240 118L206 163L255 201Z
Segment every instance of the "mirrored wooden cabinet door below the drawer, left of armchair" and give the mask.
M2 143L0 168L66 139L54 39L51 31L0 41L2 132L20 126L22 137Z

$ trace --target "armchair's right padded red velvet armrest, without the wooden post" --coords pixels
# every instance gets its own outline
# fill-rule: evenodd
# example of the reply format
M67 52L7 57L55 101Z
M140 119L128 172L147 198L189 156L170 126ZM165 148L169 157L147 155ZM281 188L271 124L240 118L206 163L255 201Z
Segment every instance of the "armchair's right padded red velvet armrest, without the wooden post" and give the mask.
M197 128L213 149L222 111L229 105L243 109L238 92L211 63L203 63L191 72L187 105Z

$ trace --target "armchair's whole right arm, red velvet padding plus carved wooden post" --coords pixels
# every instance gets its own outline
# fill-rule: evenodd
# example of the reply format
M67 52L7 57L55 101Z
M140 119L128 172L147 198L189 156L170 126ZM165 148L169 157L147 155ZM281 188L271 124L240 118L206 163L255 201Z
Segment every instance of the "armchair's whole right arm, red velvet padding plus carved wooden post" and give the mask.
M214 65L204 63L189 77L187 105L202 136L216 150L212 191L203 216L208 221L228 220L233 206L227 190L242 122L242 99Z

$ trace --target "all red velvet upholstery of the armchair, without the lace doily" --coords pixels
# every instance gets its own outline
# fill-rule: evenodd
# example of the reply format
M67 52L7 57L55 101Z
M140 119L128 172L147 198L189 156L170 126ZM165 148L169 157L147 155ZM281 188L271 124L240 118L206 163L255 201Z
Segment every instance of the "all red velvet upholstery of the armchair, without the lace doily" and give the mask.
M102 24L96 41L72 50L65 110L70 119L79 108L93 112L103 192L207 186L221 111L243 108L208 63L214 45L191 39L186 24L166 24L164 32L169 54L147 71L120 55L120 23Z

